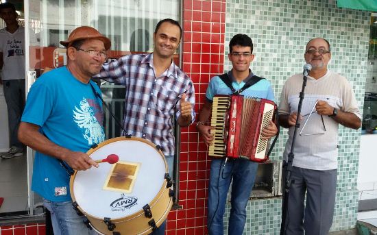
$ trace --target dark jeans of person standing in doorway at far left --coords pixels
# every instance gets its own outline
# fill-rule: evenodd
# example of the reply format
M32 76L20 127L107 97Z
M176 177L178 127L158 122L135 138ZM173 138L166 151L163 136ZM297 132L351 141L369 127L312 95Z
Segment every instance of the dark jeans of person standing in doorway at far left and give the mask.
M22 148L17 133L25 107L25 79L3 80L3 90L8 110L10 146Z

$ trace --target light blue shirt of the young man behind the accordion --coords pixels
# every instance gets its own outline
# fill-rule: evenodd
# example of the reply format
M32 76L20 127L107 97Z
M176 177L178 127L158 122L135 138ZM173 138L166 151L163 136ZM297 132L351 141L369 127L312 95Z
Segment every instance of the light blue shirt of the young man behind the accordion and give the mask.
M250 73L250 75L245 80L243 80L241 83L238 83L233 79L232 71L228 72L228 76L230 77L230 79L232 79L232 86L235 90L243 88L243 86L245 86L245 82L247 82L247 80L250 79L253 75L253 73ZM223 82L223 80L221 80L219 76L215 76L210 79L210 83L208 84L206 91L206 98L210 102L213 101L213 97L215 95L232 95L232 90L230 90L230 88L226 86L226 84ZM267 81L267 79L261 79L253 86L250 86L246 90L243 90L241 95L244 95L245 97L269 99L271 101L275 100L271 84L269 83L269 81Z

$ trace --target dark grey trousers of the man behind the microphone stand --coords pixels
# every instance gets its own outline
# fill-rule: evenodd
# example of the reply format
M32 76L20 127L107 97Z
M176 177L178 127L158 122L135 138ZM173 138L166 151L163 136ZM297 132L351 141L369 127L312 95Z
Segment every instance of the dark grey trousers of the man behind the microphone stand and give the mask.
M317 171L293 166L291 180L285 234L327 235L334 216L337 169Z

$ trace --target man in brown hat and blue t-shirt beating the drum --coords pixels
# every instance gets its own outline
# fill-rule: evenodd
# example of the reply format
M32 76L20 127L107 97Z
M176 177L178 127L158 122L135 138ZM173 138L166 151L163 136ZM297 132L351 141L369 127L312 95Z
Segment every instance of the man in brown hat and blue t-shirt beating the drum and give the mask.
M103 109L90 78L99 73L111 42L93 27L77 27L66 47L66 66L43 74L32 86L19 127L19 139L36 150L32 190L51 212L54 234L95 234L77 215L69 173L98 167L86 151L104 141Z

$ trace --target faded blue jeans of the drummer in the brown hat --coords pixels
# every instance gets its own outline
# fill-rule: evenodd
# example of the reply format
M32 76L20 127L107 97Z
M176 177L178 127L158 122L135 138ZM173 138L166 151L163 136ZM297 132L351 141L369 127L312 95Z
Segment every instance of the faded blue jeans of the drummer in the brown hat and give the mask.
M95 235L84 224L84 216L79 216L72 206L72 201L53 202L43 200L43 205L51 213L53 234L55 235Z

